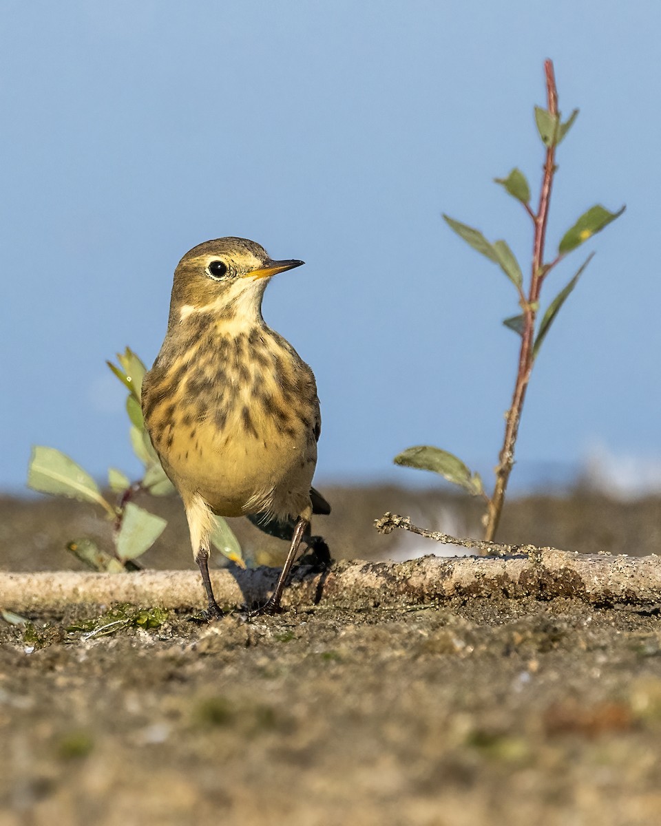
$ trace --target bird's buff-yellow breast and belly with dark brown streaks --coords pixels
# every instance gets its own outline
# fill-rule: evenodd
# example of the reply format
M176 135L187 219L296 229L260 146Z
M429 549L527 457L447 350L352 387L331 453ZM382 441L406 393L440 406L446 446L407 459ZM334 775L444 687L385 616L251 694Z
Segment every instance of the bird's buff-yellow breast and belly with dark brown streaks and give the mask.
M222 515L272 510L284 489L309 491L316 386L279 337L198 339L174 358L157 358L143 383L143 411L176 487L200 493Z

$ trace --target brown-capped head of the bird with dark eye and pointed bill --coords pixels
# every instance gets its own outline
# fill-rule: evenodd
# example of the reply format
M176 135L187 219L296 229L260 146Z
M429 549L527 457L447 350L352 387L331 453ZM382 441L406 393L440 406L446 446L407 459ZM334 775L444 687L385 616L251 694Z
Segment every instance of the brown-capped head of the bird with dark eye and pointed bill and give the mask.
M273 261L264 247L245 238L218 238L189 250L174 271L170 325L189 316L261 320L264 289L271 276L302 261Z

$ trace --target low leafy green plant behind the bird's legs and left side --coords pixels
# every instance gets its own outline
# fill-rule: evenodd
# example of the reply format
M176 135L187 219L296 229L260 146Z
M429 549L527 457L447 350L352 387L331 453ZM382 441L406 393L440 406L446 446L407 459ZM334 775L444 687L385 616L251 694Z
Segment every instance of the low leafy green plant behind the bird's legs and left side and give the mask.
M103 495L93 477L72 458L55 448L42 445L36 445L32 449L27 477L27 485L34 491L69 496L101 506L113 523L112 553L98 548L88 538L74 539L67 547L89 567L106 572L136 570L140 567L134 560L151 548L167 524L162 517L137 506L131 500L142 492L152 496L167 496L174 491L142 420L140 388L146 372L145 365L128 347L123 354L117 354L117 361L118 364L107 362L107 365L128 390L126 413L131 420L131 445L144 470L140 480L131 482L126 473L117 468L109 468L108 487L117 494L117 504L113 505ZM228 559L244 564L240 545L229 525L220 516L216 517L212 542Z

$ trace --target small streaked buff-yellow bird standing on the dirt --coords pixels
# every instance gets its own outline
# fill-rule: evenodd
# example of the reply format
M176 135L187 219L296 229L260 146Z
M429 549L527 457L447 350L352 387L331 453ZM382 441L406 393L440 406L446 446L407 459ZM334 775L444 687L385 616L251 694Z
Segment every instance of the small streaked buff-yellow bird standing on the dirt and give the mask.
M190 249L174 272L164 342L143 378L145 427L183 501L207 619L224 615L208 569L214 515L291 525L283 570L258 608L274 614L302 541L316 539L312 514L331 510L311 485L321 434L314 373L262 316L270 279L302 263L273 260L244 238Z

